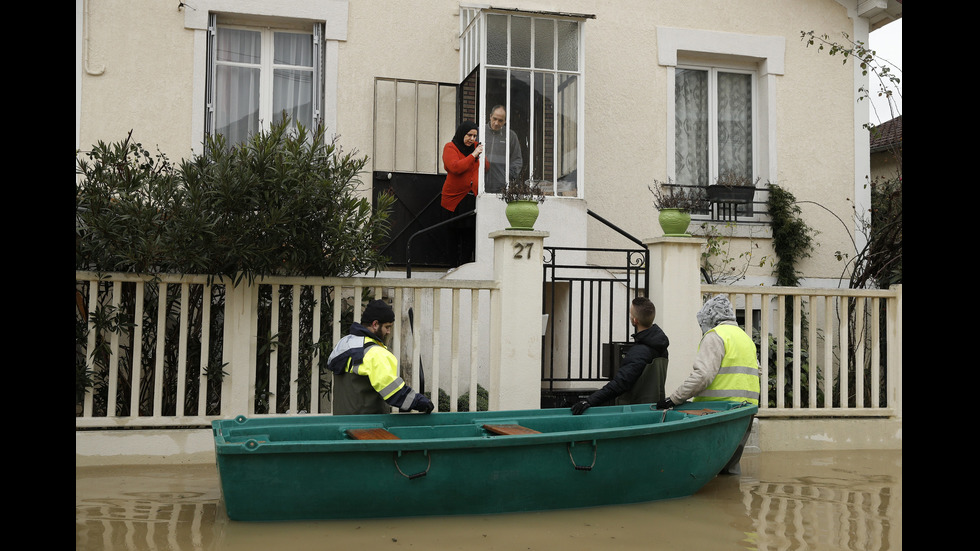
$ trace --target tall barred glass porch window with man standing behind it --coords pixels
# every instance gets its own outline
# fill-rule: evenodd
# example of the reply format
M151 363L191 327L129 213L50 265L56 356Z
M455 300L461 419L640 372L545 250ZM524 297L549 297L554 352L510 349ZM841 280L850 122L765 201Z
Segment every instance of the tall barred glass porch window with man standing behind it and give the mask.
M480 180L485 191L498 193L508 180L530 178L546 195L577 196L581 21L472 10L460 19L462 73L478 75L481 83L475 115L488 161Z

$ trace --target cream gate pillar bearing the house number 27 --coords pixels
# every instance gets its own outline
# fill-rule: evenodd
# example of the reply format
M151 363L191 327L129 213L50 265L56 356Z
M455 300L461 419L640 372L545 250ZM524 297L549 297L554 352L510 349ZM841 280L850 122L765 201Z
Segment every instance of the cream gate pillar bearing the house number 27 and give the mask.
M501 230L494 243L493 274L500 290L490 304L490 410L541 407L542 269L548 232Z

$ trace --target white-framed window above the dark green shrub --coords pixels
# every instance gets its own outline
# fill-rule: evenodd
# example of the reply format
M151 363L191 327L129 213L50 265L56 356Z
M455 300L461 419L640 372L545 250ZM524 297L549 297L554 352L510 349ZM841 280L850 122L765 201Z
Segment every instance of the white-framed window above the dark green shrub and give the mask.
M248 27L212 16L206 130L236 144L283 112L294 127L319 123L320 27Z

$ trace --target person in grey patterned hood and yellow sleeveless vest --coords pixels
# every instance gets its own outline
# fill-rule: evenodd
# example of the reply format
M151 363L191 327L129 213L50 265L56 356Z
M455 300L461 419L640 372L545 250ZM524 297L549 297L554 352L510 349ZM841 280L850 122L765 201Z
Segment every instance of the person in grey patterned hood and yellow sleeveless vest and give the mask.
M704 335L694 358L694 370L657 409L672 408L693 398L694 402L729 401L759 404L759 360L752 337L735 318L728 297L716 295L701 307L698 324ZM739 460L752 423L722 474L739 474Z

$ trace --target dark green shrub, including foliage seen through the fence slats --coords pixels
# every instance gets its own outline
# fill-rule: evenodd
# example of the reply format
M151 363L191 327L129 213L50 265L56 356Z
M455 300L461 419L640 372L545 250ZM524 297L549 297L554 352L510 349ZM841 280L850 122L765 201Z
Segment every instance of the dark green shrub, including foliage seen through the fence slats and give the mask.
M302 127L289 130L285 117L270 130L233 148L226 147L220 136L209 138L204 145L203 154L179 166L163 154L150 154L133 140L132 133L120 142L99 142L89 152L76 152L75 269L206 274L227 276L237 283L260 275L343 277L384 266L386 259L379 251L388 232L393 198L381 196L372 209L368 194L359 189L358 177L366 158L342 153L335 141L325 139L321 128L313 132ZM97 414L107 413L102 379L107 372L108 351L101 335L117 331L123 323L141 324L144 340L120 345L116 413L128 411L133 384L140 385L139 410L152 405L152 378L137 380L133 374L139 371L130 364L133 347L142 347L144 362L152 363L156 354L153 343L161 329L147 320L156 319L158 286L147 285L143 320L133 319L133 290L133 284L123 286L118 311L99 306L89 313L84 305L94 287L76 289L80 304L76 315L76 405L91 390ZM209 383L203 391L208 393L208 411L200 414L211 414L219 407L224 375L223 359L215 352L221 349L221 334L211 336L214 350L200 350L204 330L200 316L204 301L212 301L213 319L220 320L221 312L214 308L222 300L220 296L203 296L203 290L203 286L192 285L187 299L192 328L188 363L201 366L203 371L189 368L187 377L193 381L202 372L207 375ZM176 291L168 289L167 320L162 329L168 332L180 327ZM214 292L224 291L216 288ZM261 298L266 306L267 296ZM280 297L281 302L291 300ZM329 312L332 300L331 296L304 294L299 308L307 312L319 302L326 306L324 312ZM350 315L345 310L345 320ZM314 349L319 348L325 358L324 350L329 353L332 337L313 343L305 323L300 327L300 374L308 381ZM93 325L99 337L95 350L86 353ZM261 317L259 329L259 369L266 376L270 370L277 370L280 379L288 377L289 366L282 359L280 365L270 366L267 356L276 342L289 342L291 329L272 328ZM176 393L170 389L176 389L178 383L174 366L179 339L166 342L165 369L159 376L163 377L163 412L172 414L176 411ZM93 371L88 369L87 358L94 361ZM319 371L322 378L324 370ZM286 382L280 380L280 388ZM185 408L196 412L196 386L189 388ZM308 386L300 390L308 391ZM259 386L256 395L259 401L267 399L268 389ZM315 407L306 402L304 397L299 404L289 404L287 395L280 396L277 403L279 408L294 410Z

